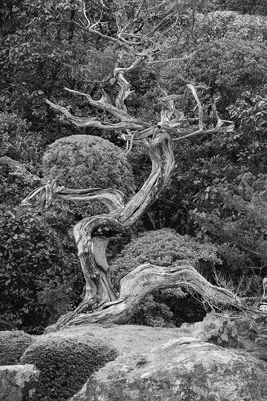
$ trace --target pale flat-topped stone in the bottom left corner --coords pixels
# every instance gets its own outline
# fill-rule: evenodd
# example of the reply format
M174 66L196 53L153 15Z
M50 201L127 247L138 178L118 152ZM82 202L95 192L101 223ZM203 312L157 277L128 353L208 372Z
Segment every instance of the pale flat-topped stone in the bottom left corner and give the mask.
M0 366L0 400L30 400L38 374L33 365Z

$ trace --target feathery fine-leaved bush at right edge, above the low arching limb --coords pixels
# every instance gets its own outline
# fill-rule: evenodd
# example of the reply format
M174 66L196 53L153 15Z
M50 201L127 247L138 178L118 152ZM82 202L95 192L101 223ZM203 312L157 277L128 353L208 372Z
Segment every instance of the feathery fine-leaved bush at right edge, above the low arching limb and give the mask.
M266 187L266 174L241 173L232 183L218 183L211 188L216 200L213 208L202 216L194 212L195 219L215 234L228 271L266 270Z

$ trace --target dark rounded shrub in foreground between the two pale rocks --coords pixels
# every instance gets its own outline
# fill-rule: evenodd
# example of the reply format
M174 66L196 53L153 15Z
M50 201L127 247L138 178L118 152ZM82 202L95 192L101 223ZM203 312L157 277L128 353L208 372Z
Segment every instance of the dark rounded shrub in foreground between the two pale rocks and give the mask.
M49 336L36 341L20 359L40 370L34 401L66 401L117 351L93 337Z

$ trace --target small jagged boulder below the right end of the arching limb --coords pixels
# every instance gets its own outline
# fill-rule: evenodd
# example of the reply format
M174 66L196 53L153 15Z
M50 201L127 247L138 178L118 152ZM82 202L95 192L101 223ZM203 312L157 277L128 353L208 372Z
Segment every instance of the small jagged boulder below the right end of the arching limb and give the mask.
M191 337L229 348L242 348L235 322L226 317L218 317L207 313L201 322L194 324Z

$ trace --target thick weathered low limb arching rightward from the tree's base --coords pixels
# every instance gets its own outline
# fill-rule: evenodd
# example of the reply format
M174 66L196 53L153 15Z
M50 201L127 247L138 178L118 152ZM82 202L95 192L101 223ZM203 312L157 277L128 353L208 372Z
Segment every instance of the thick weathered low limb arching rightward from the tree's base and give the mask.
M117 300L108 302L102 310L89 314L78 314L73 317L69 312L67 315L61 316L56 327L107 321L116 324L126 323L134 313L135 307L147 294L155 290L173 287L189 288L207 302L216 305L241 306L238 297L224 288L210 284L191 266L159 267L144 264L121 279Z

